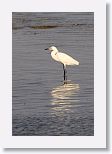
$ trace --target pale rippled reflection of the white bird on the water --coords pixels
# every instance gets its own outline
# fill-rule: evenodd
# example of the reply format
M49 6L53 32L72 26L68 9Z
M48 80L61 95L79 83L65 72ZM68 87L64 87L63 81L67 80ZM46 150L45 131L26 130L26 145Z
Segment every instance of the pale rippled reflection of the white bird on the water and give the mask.
M65 113L71 112L74 103L79 102L79 84L67 83L57 86L51 91L51 114L64 116Z

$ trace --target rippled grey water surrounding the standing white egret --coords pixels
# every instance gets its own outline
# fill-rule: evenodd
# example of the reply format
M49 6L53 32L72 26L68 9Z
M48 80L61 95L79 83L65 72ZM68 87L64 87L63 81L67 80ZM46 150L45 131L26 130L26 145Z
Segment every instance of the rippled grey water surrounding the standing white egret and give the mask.
M63 67L55 45L80 62ZM12 14L12 135L94 135L94 14Z

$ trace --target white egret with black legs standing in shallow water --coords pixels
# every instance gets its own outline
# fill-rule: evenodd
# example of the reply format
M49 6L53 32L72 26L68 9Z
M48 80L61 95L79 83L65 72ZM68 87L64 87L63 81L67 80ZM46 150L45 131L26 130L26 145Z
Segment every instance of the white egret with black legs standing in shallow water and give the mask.
M59 52L58 49L55 46L51 46L45 50L49 50L51 52L51 57L60 63L63 64L63 71L64 71L64 83L67 83L67 65L79 65L79 62L75 59L73 59L71 56Z

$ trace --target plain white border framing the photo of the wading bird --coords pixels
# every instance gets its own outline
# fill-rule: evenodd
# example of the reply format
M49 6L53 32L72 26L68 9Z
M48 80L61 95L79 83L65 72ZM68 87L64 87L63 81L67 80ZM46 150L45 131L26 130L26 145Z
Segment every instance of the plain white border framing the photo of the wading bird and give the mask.
M106 3L103 0L2 0L3 148L106 148ZM94 136L12 136L12 12L94 12ZM2 14L3 13L3 14ZM3 15L3 16L2 16ZM5 34L5 35L4 35ZM3 117L3 118L2 118Z

